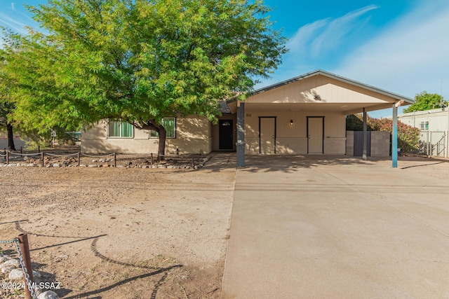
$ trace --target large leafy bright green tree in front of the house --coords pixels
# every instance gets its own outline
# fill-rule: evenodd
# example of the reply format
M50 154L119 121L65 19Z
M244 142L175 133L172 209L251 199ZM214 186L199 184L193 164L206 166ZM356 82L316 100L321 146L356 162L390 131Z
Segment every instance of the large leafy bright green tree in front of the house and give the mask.
M163 118L216 120L220 100L244 99L286 53L262 1L51 0L29 10L48 34L31 32L11 55L15 119L39 130L125 120L159 133L159 158Z

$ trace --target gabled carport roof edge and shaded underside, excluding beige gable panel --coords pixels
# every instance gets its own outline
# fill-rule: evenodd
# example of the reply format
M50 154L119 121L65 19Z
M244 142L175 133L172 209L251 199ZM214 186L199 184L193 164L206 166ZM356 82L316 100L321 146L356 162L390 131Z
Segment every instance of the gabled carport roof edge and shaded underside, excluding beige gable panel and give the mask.
M382 89L376 88L376 87L374 87L372 85L367 85L367 84L364 84L364 83L361 83L361 82L358 82L358 81L351 80L349 78L344 78L342 76L338 76L338 75L332 74L332 73L330 73L328 71L323 71L321 69L316 70L316 71L311 71L310 73L303 74L303 75L297 76L295 78L290 78L290 79L288 79L286 81L282 81L282 82L279 82L279 83L276 83L276 84L273 84L273 85L269 85L269 86L264 87L264 88L260 88L258 90L253 91L253 92L250 92L250 94L248 94L248 98L252 97L252 96L255 96L255 95L258 95L258 94L262 94L263 92L267 92L269 90L274 90L276 88L281 88L284 85L288 85L290 83L295 83L297 81L302 81L302 80L305 80L307 78L311 78L313 76L320 76L320 75L328 77L328 78L332 78L332 79L334 79L336 81L340 81L342 83L346 83L346 84L349 84L349 85L352 85L352 86L355 86L355 87L358 87L358 88L363 88L364 90L370 90L371 92L376 92L378 95L383 95L383 96L386 96L386 97L390 98L390 100L384 102L384 104L380 104L380 103L377 103L377 104L375 104L375 103L371 103L371 104L367 104L367 103L365 103L365 104L363 104L363 103L358 103L358 104L352 103L351 105L347 106L345 111L342 111L341 109L337 109L337 110L342 111L344 114L358 113L358 112L361 112L363 110L363 108L365 108L366 111L374 111L374 110L378 110L378 109L391 108L391 104L394 104L395 102L400 102L400 101L403 101L404 105L408 105L408 104L413 104L414 103L414 100L410 99L410 97L404 97L403 95L398 95L398 94L396 94L394 92L389 92L387 90L382 90ZM385 99L383 99L383 100L385 100ZM234 102L234 103L232 103L232 102ZM227 104L228 104L229 108L231 109L231 111L234 112L235 109L236 109L236 100L234 99L234 100L227 101ZM318 106L318 105L315 105L315 104L314 105L308 104L307 106L308 106L309 109L320 109L320 110L321 109L326 109L326 110L335 109L335 105L334 104L330 104L330 103L327 104L326 107L323 106L323 105L319 105Z

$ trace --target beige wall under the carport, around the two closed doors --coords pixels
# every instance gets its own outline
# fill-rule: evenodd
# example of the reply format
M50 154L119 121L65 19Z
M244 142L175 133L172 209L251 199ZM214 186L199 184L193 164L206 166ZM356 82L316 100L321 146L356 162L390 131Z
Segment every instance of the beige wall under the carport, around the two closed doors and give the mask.
M307 116L324 116L324 153L346 152L346 118L342 113L246 110L246 153L259 153L259 117L276 116L276 154L307 154ZM290 125L293 120L293 125Z

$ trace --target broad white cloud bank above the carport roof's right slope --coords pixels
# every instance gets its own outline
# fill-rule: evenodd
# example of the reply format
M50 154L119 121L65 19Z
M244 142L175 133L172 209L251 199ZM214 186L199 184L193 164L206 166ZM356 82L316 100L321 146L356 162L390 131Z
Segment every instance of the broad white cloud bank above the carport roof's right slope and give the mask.
M426 1L350 53L336 74L408 97L427 90L449 98L449 4Z

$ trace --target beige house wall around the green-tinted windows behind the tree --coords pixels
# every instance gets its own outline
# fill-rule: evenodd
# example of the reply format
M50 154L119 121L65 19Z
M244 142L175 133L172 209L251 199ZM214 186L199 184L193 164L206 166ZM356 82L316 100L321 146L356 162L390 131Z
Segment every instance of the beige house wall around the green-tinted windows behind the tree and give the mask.
M212 125L206 118L176 118L176 138L166 139L166 155L210 153L213 149ZM159 139L149 138L149 130L134 129L133 138L107 137L107 120L82 133L83 153L157 153Z

